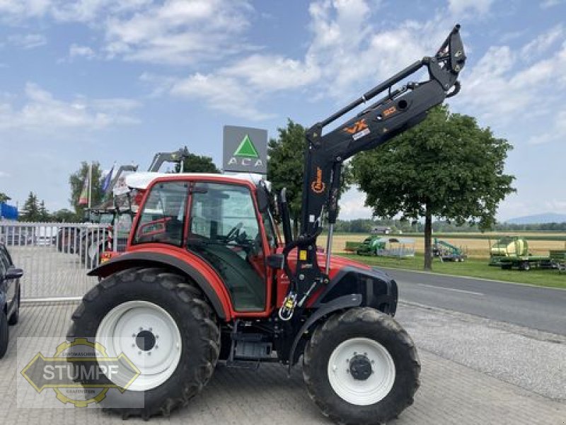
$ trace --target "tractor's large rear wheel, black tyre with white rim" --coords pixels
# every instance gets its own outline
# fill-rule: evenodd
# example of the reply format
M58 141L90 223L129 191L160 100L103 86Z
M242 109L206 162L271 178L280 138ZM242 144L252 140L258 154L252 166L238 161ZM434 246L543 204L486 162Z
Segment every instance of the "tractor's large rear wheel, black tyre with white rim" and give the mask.
M72 320L67 340L96 341L110 357L123 352L141 370L123 394L108 392L100 403L122 419L168 416L202 390L218 361L214 310L192 281L161 268L108 276L83 297Z

